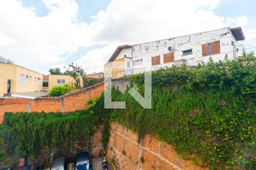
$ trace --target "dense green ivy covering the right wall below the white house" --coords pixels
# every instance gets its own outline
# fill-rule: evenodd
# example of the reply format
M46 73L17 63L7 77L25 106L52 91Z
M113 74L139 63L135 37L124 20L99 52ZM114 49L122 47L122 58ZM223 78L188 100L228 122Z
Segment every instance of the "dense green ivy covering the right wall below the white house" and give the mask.
M144 75L131 80L143 94ZM127 104L114 109L112 121L141 137L156 135L205 167L255 168L255 58L154 71L152 109L143 109L128 92L114 91L114 100Z

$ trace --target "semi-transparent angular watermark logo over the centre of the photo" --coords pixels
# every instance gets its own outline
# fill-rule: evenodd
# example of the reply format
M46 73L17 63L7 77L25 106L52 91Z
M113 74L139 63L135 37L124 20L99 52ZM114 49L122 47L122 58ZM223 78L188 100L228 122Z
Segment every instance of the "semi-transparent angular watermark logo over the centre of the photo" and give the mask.
M104 68L105 92L104 92L104 108L105 109L125 109L125 101L112 101L112 79L121 78L133 73L131 68L125 67L125 62L109 62ZM144 97L139 94L134 87L128 92L139 104L145 109L151 109L152 106L152 74L151 71L144 72Z

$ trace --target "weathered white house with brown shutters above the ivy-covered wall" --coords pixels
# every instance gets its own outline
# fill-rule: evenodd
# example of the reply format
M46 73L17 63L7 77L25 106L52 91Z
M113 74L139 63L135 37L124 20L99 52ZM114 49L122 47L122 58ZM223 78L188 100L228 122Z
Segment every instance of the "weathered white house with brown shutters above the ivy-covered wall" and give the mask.
M116 61L125 62L121 70L125 70L125 75L131 75L172 65L195 66L208 62L210 57L217 62L224 60L225 54L228 54L229 59L234 59L245 53L243 45L238 44L242 40L245 40L245 36L241 27L228 27L142 44L122 45L118 46L106 65Z

